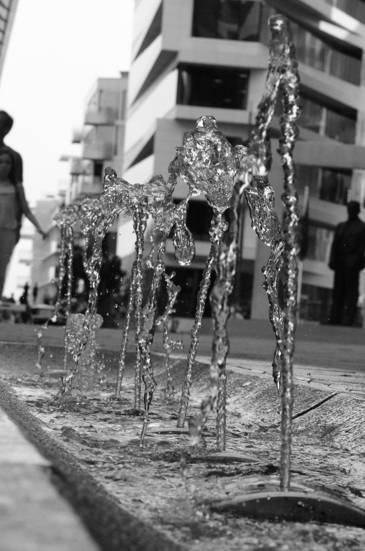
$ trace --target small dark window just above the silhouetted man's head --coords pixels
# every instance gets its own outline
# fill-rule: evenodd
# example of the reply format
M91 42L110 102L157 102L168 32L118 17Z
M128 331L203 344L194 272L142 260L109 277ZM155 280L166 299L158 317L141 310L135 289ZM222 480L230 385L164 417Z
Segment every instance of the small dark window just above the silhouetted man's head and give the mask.
M325 168L312 165L297 165L298 192L304 193L304 187L309 187L309 196L345 205L348 190L351 186L351 170Z

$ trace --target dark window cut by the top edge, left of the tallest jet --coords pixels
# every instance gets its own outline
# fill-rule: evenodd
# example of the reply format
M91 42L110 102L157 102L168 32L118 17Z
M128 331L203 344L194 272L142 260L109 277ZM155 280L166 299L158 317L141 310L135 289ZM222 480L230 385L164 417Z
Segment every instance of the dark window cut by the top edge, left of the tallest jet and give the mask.
M192 36L259 42L267 26L261 2L246 0L195 0Z

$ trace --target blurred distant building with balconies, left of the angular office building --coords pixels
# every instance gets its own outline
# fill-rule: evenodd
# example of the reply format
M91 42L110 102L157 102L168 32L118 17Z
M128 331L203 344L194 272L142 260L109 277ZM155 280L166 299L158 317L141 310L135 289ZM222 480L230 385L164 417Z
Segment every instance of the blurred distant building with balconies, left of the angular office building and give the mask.
M78 156L62 156L69 163L69 182L56 199L38 201L35 215L47 229L47 240L34 235L34 260L31 282L39 287L39 302L55 299L59 272L61 235L53 215L62 205L79 203L84 197L98 197L103 190L106 166L121 174L124 150L124 125L128 73L120 78L99 78L86 101L84 126L74 129L72 142L79 144ZM104 242L106 256L116 253L117 223L108 230ZM75 244L80 245L80 230L74 228Z

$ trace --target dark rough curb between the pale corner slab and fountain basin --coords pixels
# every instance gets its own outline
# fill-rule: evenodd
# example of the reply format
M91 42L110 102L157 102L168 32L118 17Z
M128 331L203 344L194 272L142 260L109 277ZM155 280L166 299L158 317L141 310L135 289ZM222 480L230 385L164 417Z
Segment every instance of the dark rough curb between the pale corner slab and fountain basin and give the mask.
M73 455L44 430L42 423L4 382L0 382L0 406L52 463L58 489L71 502L101 548L106 551L186 551L184 545L122 509Z

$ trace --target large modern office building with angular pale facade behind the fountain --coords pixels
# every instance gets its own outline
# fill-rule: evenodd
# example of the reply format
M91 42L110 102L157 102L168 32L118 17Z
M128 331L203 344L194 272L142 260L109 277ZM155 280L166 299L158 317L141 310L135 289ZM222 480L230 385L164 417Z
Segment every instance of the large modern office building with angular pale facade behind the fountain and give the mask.
M232 144L248 141L267 74L267 20L275 13L291 21L299 61L303 111L294 158L300 201L304 186L310 188L302 315L319 319L330 300L333 276L327 261L334 226L346 219L350 193L362 204L365 196L365 2L136 0L123 177L147 182L160 173L167 179L175 147L204 114L216 118ZM281 217L277 116L271 136L274 158L269 178ZM186 196L185 187L183 182L176 186L177 200ZM209 249L210 215L205 199L191 202L188 225L196 240L191 266L176 264L168 242L165 262L183 288L180 316L194 312ZM133 258L130 224L121 220L118 231L117 253L126 267ZM239 300L253 318L267 316L261 267L268 256L269 249L257 240L246 213Z

